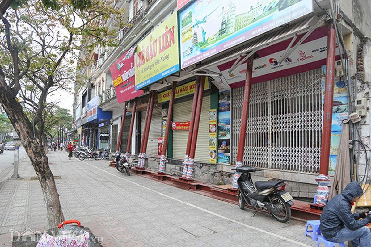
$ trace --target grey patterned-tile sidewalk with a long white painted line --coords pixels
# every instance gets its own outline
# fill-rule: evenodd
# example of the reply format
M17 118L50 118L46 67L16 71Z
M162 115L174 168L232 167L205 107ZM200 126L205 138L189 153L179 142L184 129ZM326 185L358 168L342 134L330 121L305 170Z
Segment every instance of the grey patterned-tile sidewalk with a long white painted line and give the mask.
M316 246L305 223L279 223L268 214L215 200L108 167L108 161L48 154L66 220L88 227L102 246ZM10 231L48 229L39 181L29 160L22 180L0 188L0 246ZM59 177L58 177L59 176Z

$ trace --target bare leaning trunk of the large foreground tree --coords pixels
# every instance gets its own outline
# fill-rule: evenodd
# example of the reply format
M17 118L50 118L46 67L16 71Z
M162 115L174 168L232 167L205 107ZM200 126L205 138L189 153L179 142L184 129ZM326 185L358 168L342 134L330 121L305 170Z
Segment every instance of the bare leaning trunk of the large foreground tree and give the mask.
M3 105L14 129L20 136L22 145L26 149L32 166L35 169L37 177L44 195L47 218L49 226L54 227L64 221L62 208L60 206L59 194L54 181L54 176L48 164L48 158L45 154L43 143L38 133L33 135L33 126L27 116L24 114L22 106L16 101L12 89L7 89L0 93L0 102ZM37 131L37 129L35 129Z

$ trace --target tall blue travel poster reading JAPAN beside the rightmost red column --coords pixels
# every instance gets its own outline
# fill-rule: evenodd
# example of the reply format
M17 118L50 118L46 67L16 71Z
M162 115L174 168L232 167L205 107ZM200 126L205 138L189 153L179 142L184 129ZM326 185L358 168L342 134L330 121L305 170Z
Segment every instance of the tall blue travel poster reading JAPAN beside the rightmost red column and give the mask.
M322 103L325 103L326 65L321 67L322 74ZM323 109L323 107L322 107ZM340 144L343 120L349 118L347 88L344 80L336 77L334 82L334 99L332 102L331 142L329 174L335 174L336 160Z

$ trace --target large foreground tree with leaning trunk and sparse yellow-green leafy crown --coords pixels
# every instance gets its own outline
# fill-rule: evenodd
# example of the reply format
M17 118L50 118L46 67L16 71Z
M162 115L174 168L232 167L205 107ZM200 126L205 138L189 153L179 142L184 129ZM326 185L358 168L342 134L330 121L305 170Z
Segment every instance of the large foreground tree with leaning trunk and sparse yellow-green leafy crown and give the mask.
M20 136L40 181L50 226L64 220L45 145L47 98L67 89L75 66L98 44L115 46L105 26L124 10L111 0L3 0L0 2L0 103ZM81 50L83 48L83 50ZM91 57L91 56L86 56Z

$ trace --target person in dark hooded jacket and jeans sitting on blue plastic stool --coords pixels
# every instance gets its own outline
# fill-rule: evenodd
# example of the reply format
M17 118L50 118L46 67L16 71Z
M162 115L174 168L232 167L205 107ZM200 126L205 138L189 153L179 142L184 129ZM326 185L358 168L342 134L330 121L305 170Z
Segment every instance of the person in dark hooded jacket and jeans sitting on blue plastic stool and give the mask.
M363 194L358 182L351 182L325 205L321 214L322 235L329 241L351 241L352 247L370 247L371 233L366 224L371 215L351 213L351 207ZM362 220L360 220L362 218Z

